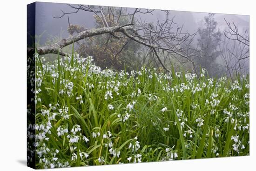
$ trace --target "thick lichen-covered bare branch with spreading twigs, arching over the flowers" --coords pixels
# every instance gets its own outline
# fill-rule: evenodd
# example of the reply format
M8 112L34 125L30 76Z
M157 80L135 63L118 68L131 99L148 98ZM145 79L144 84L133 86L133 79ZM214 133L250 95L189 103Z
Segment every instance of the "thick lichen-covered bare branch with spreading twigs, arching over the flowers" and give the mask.
M71 35L71 37L67 39L62 39L61 41L49 46L37 47L37 53L39 53L40 55L47 53L67 55L66 53L63 53L61 51L63 47L68 46L81 39L85 39L87 37L108 33L109 36L111 36L108 37L108 39L114 38L121 40L125 38L124 41L126 41L126 43L124 43L120 48L120 51L115 54L114 59L118 54L121 53L124 46L127 45L128 40L133 40L140 45L145 46L146 51L152 53L154 60L156 57L161 66L166 71L169 72L168 68L165 66L167 58L171 62L170 58L181 57L182 59L189 61L196 72L196 66L193 58L200 58L200 56L198 55L200 53L199 50L190 46L191 42L194 40L196 33L183 33L183 26L175 26L175 22L173 21L174 18L169 19L169 11L161 10L162 13L165 13L165 20L163 20L162 22L160 20L157 20L157 22L153 24L148 23L145 20L142 21L135 18L135 15L137 13L153 14L154 10L151 9L135 8L135 11L133 13L127 13L127 8L125 8L124 10L122 7L116 7L114 8L114 10L112 10L111 7L71 4L67 5L73 8L74 11L68 13L61 11L62 14L59 17L54 18L61 18L67 14L78 13L79 11L86 11L94 13L97 19L101 21L102 27L82 31L81 33ZM130 24L118 26L120 23L120 19L123 16L128 16L130 18L130 20L127 22Z

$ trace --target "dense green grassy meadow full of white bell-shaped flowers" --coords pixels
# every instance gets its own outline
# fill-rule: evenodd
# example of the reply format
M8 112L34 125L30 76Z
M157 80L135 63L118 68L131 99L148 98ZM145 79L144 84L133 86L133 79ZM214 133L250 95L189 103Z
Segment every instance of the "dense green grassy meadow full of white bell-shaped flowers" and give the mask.
M91 57L36 56L36 168L249 155L249 76L236 81Z

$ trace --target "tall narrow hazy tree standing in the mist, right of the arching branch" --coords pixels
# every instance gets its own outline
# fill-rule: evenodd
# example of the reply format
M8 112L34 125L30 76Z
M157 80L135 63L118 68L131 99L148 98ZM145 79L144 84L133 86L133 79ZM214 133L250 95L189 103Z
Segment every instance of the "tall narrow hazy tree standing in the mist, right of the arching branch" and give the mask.
M215 21L214 15L214 13L209 13L204 17L204 27L198 28L200 38L197 39L202 56L197 60L197 64L206 68L210 76L218 76L222 70L216 63L216 59L220 55L217 47L221 42L222 33L217 30L218 23Z

